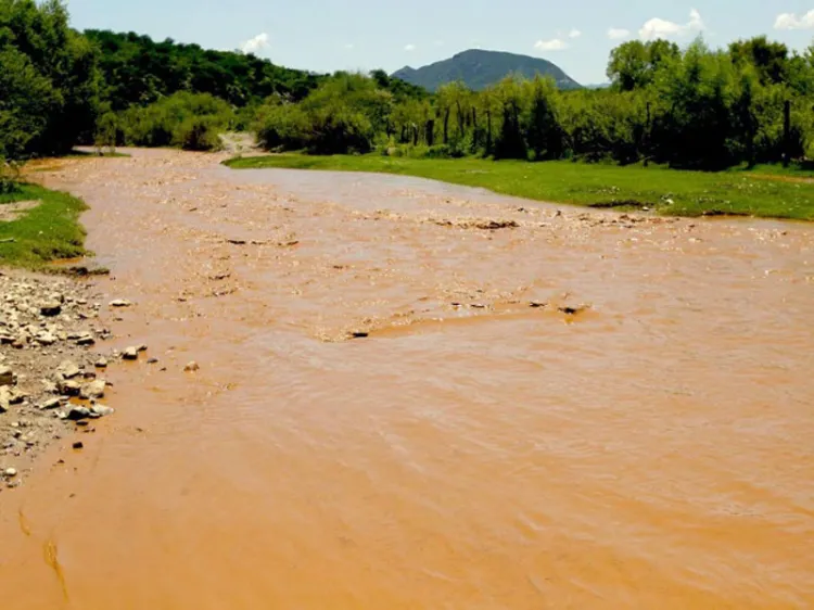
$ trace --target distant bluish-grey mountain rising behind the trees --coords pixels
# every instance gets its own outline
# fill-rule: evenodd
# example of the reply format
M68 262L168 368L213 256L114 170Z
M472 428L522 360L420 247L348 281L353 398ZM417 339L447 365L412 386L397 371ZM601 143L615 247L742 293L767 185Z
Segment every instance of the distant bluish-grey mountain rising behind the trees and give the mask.
M480 49L470 49L418 69L406 66L393 73L393 77L430 91L435 91L446 82L462 80L467 87L479 91L509 74L520 74L527 78L533 78L536 74L551 76L560 89L581 88L578 82L547 60Z

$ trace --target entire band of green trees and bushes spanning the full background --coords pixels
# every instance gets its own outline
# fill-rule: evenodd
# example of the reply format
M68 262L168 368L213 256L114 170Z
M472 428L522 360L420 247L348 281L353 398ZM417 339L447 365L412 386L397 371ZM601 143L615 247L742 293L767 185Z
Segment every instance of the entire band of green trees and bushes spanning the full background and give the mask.
M315 75L252 54L69 27L60 0L0 0L0 157L76 143L208 150L252 129L269 150L720 169L814 156L814 50L765 37L710 49L631 41L611 86L507 77L430 94L391 78Z

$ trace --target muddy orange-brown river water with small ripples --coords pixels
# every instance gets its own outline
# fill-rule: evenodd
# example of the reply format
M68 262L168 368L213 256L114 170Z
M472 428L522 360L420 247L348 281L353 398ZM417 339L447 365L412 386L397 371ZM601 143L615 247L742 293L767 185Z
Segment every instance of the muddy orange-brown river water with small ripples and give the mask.
M814 607L814 228L217 161L43 175L160 363L0 494L0 607Z

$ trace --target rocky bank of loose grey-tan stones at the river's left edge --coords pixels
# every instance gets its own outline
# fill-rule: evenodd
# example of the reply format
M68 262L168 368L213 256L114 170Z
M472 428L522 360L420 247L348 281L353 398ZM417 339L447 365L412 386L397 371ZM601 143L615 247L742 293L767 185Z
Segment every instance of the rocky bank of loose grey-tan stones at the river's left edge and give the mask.
M18 486L50 443L113 412L100 402L100 345L112 336L102 307L89 281L0 269L0 490Z

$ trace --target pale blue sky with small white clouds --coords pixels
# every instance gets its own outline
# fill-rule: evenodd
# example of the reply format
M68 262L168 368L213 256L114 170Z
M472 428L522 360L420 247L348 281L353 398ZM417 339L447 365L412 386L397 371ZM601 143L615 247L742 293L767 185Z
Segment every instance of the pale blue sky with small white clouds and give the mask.
M68 0L79 29L238 50L333 72L420 67L467 49L545 58L582 84L607 80L624 40L702 35L712 47L767 35L814 40L814 0Z

